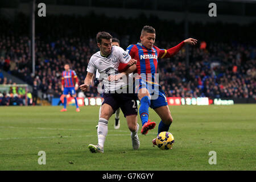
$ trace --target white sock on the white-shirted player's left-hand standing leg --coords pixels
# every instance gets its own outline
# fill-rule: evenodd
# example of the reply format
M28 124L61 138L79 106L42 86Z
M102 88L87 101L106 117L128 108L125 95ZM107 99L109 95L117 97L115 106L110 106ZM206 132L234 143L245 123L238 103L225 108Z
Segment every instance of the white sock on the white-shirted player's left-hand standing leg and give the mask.
M104 118L100 118L98 120L97 133L98 133L98 144L101 147L104 147L106 135L108 134L108 120Z

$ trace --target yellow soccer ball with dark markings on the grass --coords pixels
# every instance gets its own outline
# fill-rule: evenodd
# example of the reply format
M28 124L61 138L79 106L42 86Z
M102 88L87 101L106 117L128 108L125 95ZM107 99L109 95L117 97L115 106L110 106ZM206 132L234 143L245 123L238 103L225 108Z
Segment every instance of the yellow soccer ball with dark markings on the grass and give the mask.
M156 137L156 145L162 150L169 150L174 146L174 136L167 131L163 131Z

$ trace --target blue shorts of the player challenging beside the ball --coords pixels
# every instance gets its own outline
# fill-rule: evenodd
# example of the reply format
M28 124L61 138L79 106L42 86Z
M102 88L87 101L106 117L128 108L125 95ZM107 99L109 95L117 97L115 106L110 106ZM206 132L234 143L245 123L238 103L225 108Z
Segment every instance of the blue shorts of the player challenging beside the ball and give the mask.
M146 88L148 92L150 93L151 99L150 99L150 107L152 109L156 109L158 107L167 106L167 98L166 94L162 90L162 86L155 84L155 83L149 83L141 78L135 81L135 93L138 96L139 90L142 88Z

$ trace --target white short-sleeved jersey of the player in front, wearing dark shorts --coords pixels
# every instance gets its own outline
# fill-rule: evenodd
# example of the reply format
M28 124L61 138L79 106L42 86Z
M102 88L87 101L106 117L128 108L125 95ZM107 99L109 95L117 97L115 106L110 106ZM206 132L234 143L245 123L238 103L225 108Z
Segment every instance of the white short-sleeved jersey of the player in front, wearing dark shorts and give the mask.
M127 64L131 60L131 56L128 52L121 47L113 46L112 52L108 57L101 55L100 51L94 53L90 57L90 61L87 67L87 72L95 73L96 69L100 73L99 80L104 81L105 92L118 90L124 86L127 86L127 81L117 80L110 82L108 77L110 75L117 75L119 63Z

